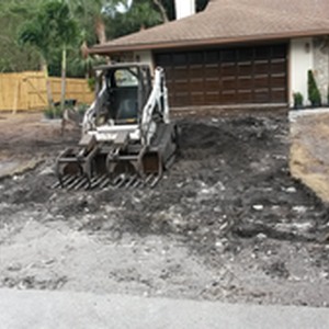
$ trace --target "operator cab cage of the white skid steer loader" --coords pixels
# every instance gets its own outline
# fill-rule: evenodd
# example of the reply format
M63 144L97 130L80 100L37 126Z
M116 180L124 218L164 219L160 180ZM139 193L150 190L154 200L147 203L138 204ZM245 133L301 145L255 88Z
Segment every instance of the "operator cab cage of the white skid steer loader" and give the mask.
M104 65L97 79L97 93L102 92L97 106L97 125L138 124L141 111L152 89L148 65L139 63Z

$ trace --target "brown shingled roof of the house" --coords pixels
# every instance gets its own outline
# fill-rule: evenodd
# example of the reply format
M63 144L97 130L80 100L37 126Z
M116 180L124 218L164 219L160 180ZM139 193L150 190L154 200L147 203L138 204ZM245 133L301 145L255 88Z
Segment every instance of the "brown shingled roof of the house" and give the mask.
M329 34L329 0L211 0L201 13L97 45L91 53L324 34Z

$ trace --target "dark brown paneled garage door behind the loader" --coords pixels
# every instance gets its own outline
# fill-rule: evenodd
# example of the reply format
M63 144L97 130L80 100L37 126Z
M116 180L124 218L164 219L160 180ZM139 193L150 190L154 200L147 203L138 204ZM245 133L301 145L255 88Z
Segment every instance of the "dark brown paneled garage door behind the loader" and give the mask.
M156 54L172 106L287 102L287 46Z

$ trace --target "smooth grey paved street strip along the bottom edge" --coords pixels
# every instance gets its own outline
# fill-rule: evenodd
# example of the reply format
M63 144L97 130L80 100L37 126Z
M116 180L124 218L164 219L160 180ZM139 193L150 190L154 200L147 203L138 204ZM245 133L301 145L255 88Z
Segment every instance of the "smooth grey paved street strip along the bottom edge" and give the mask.
M325 329L328 308L0 290L1 329Z

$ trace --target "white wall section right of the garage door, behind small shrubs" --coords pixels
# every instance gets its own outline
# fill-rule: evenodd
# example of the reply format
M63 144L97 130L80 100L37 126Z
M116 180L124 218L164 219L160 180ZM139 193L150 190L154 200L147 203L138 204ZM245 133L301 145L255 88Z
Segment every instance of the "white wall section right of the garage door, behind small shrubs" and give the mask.
M300 92L304 97L304 105L307 100L307 71L314 70L313 39L296 38L291 41L290 49L290 104L294 105L293 93Z

